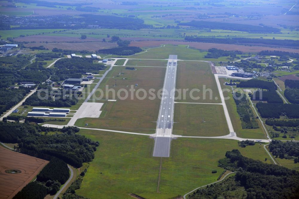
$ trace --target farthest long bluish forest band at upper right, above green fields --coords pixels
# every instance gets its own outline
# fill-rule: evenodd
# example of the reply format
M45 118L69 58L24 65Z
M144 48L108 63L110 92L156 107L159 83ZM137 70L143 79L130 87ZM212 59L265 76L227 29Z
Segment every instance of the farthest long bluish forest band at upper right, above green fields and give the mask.
M222 30L235 30L249 33L279 33L279 28L273 28L268 26L254 26L248 24L234 24L223 22L207 22L207 21L191 21L185 23L179 23L180 26L193 26L197 28L210 28L210 29L222 29Z

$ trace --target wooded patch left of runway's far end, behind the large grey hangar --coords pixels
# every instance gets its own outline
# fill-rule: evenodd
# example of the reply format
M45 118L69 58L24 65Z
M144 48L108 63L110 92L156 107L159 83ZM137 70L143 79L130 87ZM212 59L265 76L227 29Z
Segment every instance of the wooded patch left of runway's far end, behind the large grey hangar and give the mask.
M94 64L93 59L86 57L73 57L71 59L60 59L55 62L54 67L58 69L68 69L74 73L91 72L97 74L99 70L105 70L103 64Z

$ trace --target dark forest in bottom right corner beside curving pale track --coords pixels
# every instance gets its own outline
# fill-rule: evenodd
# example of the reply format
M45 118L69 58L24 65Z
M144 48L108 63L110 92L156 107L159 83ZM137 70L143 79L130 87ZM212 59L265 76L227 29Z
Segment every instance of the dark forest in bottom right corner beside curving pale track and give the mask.
M189 198L295 199L299 194L297 171L244 157L237 149L227 151L219 166L237 173L221 183L196 190Z

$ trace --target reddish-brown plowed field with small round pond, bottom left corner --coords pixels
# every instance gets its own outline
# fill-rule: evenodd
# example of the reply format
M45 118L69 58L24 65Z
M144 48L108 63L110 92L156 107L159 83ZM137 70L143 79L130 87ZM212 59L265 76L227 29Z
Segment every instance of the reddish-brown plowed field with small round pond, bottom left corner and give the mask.
M0 147L0 198L13 198L24 186L26 186L42 168L48 164L29 155L17 153ZM18 174L9 174L7 169L21 171Z

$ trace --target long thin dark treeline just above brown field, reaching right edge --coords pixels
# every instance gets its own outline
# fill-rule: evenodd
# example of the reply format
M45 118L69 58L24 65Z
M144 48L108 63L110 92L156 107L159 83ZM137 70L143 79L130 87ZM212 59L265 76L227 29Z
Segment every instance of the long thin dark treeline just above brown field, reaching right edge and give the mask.
M276 46L290 46L299 47L299 40L291 39L254 39L245 37L234 37L234 38L215 38L215 37L193 37L186 36L186 41L190 42L206 42L206 43L219 43L219 44L264 44L264 45L276 45Z

